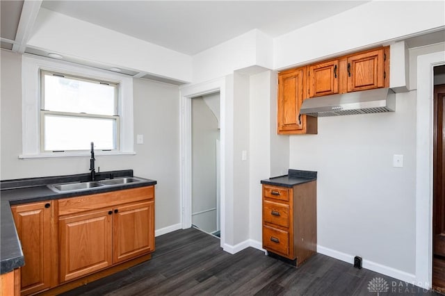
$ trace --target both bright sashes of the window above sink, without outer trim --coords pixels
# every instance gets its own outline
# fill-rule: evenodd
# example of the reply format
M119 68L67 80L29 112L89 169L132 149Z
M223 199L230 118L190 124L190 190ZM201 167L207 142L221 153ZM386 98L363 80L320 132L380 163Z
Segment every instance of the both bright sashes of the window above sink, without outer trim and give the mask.
M41 150L119 150L119 84L40 71Z

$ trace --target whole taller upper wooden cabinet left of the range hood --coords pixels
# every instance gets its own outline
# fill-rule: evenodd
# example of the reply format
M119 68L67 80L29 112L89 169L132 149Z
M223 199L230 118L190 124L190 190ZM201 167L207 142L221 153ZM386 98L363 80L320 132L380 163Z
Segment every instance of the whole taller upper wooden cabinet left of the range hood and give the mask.
M316 117L300 114L305 70L306 67L300 67L278 74L278 133L317 133Z

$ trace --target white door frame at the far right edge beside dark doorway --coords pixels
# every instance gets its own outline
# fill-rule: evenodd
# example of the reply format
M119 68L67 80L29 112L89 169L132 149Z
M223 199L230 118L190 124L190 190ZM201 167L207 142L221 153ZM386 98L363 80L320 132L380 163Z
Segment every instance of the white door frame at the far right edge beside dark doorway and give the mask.
M440 65L445 65L444 51L417 58L416 283L414 284L423 288L432 286L433 68Z

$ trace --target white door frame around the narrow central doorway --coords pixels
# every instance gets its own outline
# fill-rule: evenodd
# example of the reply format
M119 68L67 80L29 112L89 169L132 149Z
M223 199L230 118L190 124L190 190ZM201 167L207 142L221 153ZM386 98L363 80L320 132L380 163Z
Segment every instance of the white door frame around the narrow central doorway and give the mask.
M225 245L225 126L226 115L226 81L225 78L215 79L195 85L185 85L180 90L179 110L179 186L181 199L181 225L188 229L192 225L192 108L191 100L205 94L220 92L220 246Z

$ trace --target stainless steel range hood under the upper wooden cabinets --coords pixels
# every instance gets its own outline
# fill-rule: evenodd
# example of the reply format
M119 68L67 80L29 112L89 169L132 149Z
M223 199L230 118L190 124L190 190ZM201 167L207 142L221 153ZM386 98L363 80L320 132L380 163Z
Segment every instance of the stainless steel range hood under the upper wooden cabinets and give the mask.
M395 110L396 94L390 88L378 88L305 99L300 113L324 117L384 113Z

